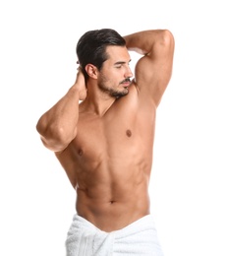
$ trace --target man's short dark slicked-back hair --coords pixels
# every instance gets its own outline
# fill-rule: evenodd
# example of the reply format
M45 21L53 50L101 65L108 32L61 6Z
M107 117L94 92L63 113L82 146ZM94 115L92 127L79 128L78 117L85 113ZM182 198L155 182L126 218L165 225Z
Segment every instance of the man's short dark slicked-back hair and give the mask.
M93 64L100 70L103 62L108 58L106 54L108 45L125 46L126 41L118 32L111 29L85 32L79 39L76 51L85 80L88 77L85 72L86 64Z

